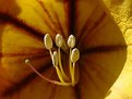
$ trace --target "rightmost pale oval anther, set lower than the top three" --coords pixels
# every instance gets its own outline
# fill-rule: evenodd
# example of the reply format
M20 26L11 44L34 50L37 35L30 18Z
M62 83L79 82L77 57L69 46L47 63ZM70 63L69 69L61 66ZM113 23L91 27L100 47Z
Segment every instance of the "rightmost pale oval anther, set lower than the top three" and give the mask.
M79 49L74 48L71 53L71 61L75 63L80 59L80 51Z

